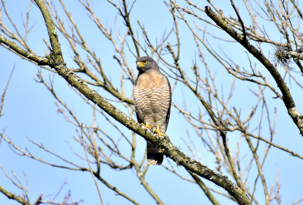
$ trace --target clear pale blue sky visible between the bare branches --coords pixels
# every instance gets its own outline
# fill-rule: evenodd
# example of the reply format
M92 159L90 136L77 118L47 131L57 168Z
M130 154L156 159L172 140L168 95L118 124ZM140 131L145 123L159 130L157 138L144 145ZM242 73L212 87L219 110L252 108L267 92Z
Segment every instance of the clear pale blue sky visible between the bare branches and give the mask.
M16 2L6 1L5 5L7 10L12 15L12 20L16 23L17 27L22 27L22 15L25 16L29 2L17 2L18 3L16 4ZM208 5L206 1L202 2L203 3L200 5L201 7ZM225 15L234 15L234 11L228 1L226 1L226 5L224 5L222 1L213 2L218 8L222 8L224 10ZM57 4L58 2L55 1L55 3ZM105 1L94 1L93 4L95 11L98 11L98 15L102 22L108 24L108 26L113 26L117 13L116 9ZM241 8L241 5L237 6ZM59 8L59 11L61 11L61 8L59 6L57 8ZM91 47L94 48L95 52L100 56L101 62L103 63L102 66L104 70L106 70L106 73L111 76L112 82L116 83L117 86L119 86L119 78L116 76L119 77L121 70L116 60L112 58L115 54L115 50L110 42L108 42L100 33L93 30L93 25L90 23L88 18L83 16L83 8L78 3L75 3L74 5L67 4L67 9L73 12L73 18L75 22L77 22L79 28L83 30L83 35L86 37L87 43L91 45ZM8 22L7 19L4 18L3 14L2 18L4 23ZM148 32L153 43L156 43L156 38L158 40L161 39L162 34L164 32L169 32L173 27L171 21L168 21L169 23L165 22L165 19L171 18L171 16L169 15L169 12L164 3L160 1L153 3L149 2L147 5L145 1L138 0L132 9L130 18L134 25L133 29L138 32L140 32L140 30L136 24L136 21L137 19L140 19L140 23L145 26L145 29ZM249 19L245 15L243 15L242 18L244 22L247 22ZM209 19L209 21L211 20ZM123 36L125 30L122 26L122 19L119 16L116 19L116 23L118 25L117 32ZM42 15L34 5L32 6L32 11L30 13L29 24L34 25L34 27L28 35L28 43L36 54L43 56L47 48L42 41L42 37L45 37L47 39L47 31L43 22ZM201 25L201 28L204 28L204 26L205 25ZM221 38L232 41L231 37L229 37L224 32L212 28L210 25L207 25L206 28L209 29L208 32L213 32L215 34L221 32ZM183 67L188 67L188 74L191 75L190 67L193 56L195 55L194 50L191 48L194 46L194 42L192 41L192 36L188 34L188 30L185 28L185 24L183 22L180 22L179 30L181 31L181 39L186 39L188 37L188 41L182 41L184 43L181 43L180 63ZM115 29L112 28L112 31L114 32ZM272 32L270 35L272 38L275 38L275 40L278 41L277 39L280 39L280 37L276 36L274 33L275 32ZM64 54L65 62L67 63L67 67L75 67L76 65L72 60L72 52L69 50L67 42L63 36L60 35L59 40L62 45L62 51ZM247 54L241 45L232 42L226 44L223 44L221 42L219 43L217 39L212 39L211 37L209 37L209 40L212 48L214 50L217 50L218 53L220 53L222 56L228 55L228 57L237 62L240 67L247 67ZM173 42L174 37L171 37L170 41ZM229 50L230 48L232 52ZM268 53L270 50L272 50L271 46L264 45L262 48L264 49L264 53ZM47 149L52 150L59 155L65 156L68 160L87 167L86 161L79 159L75 155L71 154L70 151L71 146L73 148L73 151L82 157L85 156L83 148L73 140L73 136L77 135L75 127L70 123L66 123L62 114L57 112L58 108L55 105L56 101L51 93L45 88L45 86L43 86L41 83L35 82L34 80L39 68L32 63L27 62L26 60L21 60L20 57L16 56L12 52L8 52L8 50L2 46L0 46L0 54L2 54L0 55L1 92L3 92L9 75L12 72L12 69L15 67L11 82L5 95L4 108L2 111L3 116L0 118L0 127L2 130L5 130L4 135L12 138L12 141L15 142L16 146L20 146L23 149L26 147L31 151L31 153L33 153L33 155L39 156L42 159L51 161L56 164L67 165L63 161L58 161L58 159L37 148L35 145L28 141L27 137L32 139L34 142L37 142L38 144L42 143ZM143 52L141 54L143 54ZM126 57L128 58L128 63L132 63L135 69L136 59L131 54L126 54ZM218 65L218 62L214 61L213 57L211 57L206 51L205 58L210 59L208 60L208 66L214 70L214 73L217 76L217 85L220 85L220 87L218 87L219 91L221 92L222 90L222 93L224 93L225 90L229 89L230 82L228 80L230 80L231 77L228 76L224 68ZM260 63L257 65L258 67L262 67ZM202 66L201 69L203 69ZM265 71L265 73L267 72L265 68L260 68L260 70L262 69ZM283 73L282 67L280 68L280 71ZM204 72L201 73L204 74ZM137 74L136 70L135 74ZM53 77L53 73L47 70L42 70L42 75L44 76L45 80L49 79L48 76L50 76L50 78ZM300 79L300 77L298 77L298 79ZM170 80L172 83L173 80ZM286 81L288 81L288 79L286 79ZM83 122L84 125L92 125L92 109L87 106L86 103L82 102L81 98L74 93L74 91L67 85L63 78L55 75L54 82L54 89L57 92L58 96L63 101L66 101L68 105L76 112L79 121ZM273 80L271 79L270 82L273 82ZM296 86L295 83L292 83L291 81L288 81L287 85L291 89L291 93L296 102L298 110L303 112L301 89L299 89L298 86ZM98 93L100 93L102 96L107 96L110 99L113 99L113 97L105 93L103 89L95 89L97 89ZM248 114L251 112L251 104L253 105L251 102L255 102L257 100L257 98L251 95L249 89L256 89L256 86L252 83L237 81L233 94L234 97L230 102L230 104L232 106L235 106L235 108L241 109L242 116L248 116ZM131 83L125 84L125 90L127 96L131 97ZM267 97L267 100L271 118L274 114L274 108L277 108L278 118L275 129L277 134L275 135L274 143L282 145L302 155L301 147L303 138L299 134L299 131L292 122L291 118L288 116L283 102L279 99L272 99L271 97L274 97L274 94L269 89L265 90L265 94L267 96L270 96ZM188 100L187 105L193 113L197 112L195 108L197 107L198 102L193 99L188 90L182 86L177 86L175 88L173 93L173 102L177 103L180 106L183 106L183 95L188 99L192 99ZM124 107L119 105L119 103L113 102L113 104L119 109L122 109L122 111L126 112L126 110L123 110ZM260 110L258 109L257 112L260 112ZM97 122L99 123L100 127L108 126L102 117L100 117ZM266 129L266 120L264 120L264 123L265 125L264 130L262 130L262 134L264 138L266 138L266 135L268 135L268 130ZM257 126L257 124L258 121L252 121L250 126L254 127ZM115 130L111 129L112 128L108 128L108 132L115 133ZM122 127L122 129L124 128ZM125 132L130 132L128 129L124 130ZM184 119L182 115L178 113L178 110L172 108L167 134L175 145L181 145L181 151L191 156L183 141L183 139L187 140L187 132L191 136L195 135L195 132L192 129L184 127ZM238 137L238 133L229 133L229 143L233 147L236 146L235 144L238 142ZM136 157L140 159L145 151L144 148L146 142L143 138L139 137L137 140L138 145L142 146L142 150L138 150L136 155ZM253 140L253 142L256 143L255 140ZM244 144L245 142L242 143ZM203 163L209 168L215 169L213 156L208 156L208 152L203 149L202 142L196 140L195 144L200 148L200 154L202 155ZM260 146L264 146L264 144L261 144ZM127 149L123 151L127 153ZM233 150L231 152L234 153ZM244 156L245 153L249 153L249 151L243 150L242 155ZM170 161L170 163L172 163L175 167L175 164L171 160L168 159L168 161ZM167 159L164 160L164 164L166 166L169 166L168 161ZM28 194L32 203L38 198L39 194L41 193L44 194L44 197L49 195L48 197L53 199L56 196L58 190L60 190L60 187L66 182L67 184L63 186L61 193L56 198L57 201L62 201L64 195L67 194L69 190L71 190L72 199L74 201L84 200L85 204L101 204L98 200L98 193L96 191L92 177L88 172L84 173L82 171L67 171L62 168L55 168L43 163L39 163L24 156L18 156L14 154L12 149L9 148L8 144L4 142L4 140L2 140L0 145L0 163L10 177L13 177L11 170L14 170L16 176L18 176L20 181L22 181L24 184L26 184L24 173L26 174L29 184ZM303 168L302 161L298 158L290 156L286 152L280 151L276 148L271 148L269 156L266 159L265 163L266 166L264 166L264 174L269 185L275 184L277 167L279 168L280 183L282 185L280 189L280 194L282 195L282 204L292 204L293 202L297 201L298 198L300 198L300 196L303 194L301 187L299 186L298 188L298 185L302 184L303 182L302 177L300 177L301 170ZM178 173L184 174L186 177L190 178L184 168L180 167L176 168L176 170ZM252 171L255 171L254 168ZM130 197L135 198L138 203L154 204L154 201L140 185L140 181L136 178L134 170L113 171L107 166L102 166L102 173L104 173L102 177L104 177L105 180L117 186L118 189L125 192L126 194L129 194ZM148 173L146 174L146 181L166 204L195 204L197 201L203 201L203 204L210 204L201 190L197 188L196 184L180 180L177 176L169 174L161 166L154 166L149 168ZM203 181L208 186L216 190L223 191L222 188L213 185L211 182L208 182L206 180ZM251 184L253 183L254 181L251 181ZM260 181L258 181L258 183L260 183ZM128 201L123 200L122 197L116 196L112 190L106 188L101 182L98 182L98 184L103 197L103 202L105 204L107 204L107 202L108 204L131 204ZM16 187L4 176L1 171L0 185L2 185L8 191L15 192L16 194L21 194L20 190L16 189ZM178 188L172 189L171 187ZM255 197L263 196L261 195L263 192L261 184L258 187L259 189L256 191ZM230 201L226 198L218 197L218 200L221 200L221 204L230 203ZM8 200L7 197L5 197L3 194L0 194L0 203L18 204L12 200Z

